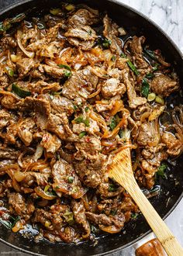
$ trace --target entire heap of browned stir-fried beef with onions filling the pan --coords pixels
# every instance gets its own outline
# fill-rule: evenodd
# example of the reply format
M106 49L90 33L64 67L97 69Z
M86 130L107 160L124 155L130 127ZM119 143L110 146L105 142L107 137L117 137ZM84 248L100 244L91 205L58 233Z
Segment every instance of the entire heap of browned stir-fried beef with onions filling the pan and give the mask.
M87 5L22 16L0 29L0 217L51 242L119 233L140 210L109 178L115 155L130 143L147 190L183 150L174 67Z

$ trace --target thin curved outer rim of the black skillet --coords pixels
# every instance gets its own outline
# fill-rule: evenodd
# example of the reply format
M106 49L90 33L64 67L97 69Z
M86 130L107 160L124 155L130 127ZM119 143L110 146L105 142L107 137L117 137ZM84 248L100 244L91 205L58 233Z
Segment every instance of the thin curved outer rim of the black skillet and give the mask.
M4 9L2 9L0 11L0 19L1 19L1 16L3 14L5 14L5 12L9 12L10 10L16 8L16 7L19 7L23 4L26 4L28 2L33 2L35 0L19 0L18 2L14 3L14 4L10 4L8 5L7 7L5 7ZM157 23L155 23L152 19L149 19L146 15L144 15L142 12L140 11L137 11L136 9L134 9L133 7L129 6L129 5L126 5L124 4L123 2L119 2L119 0L105 0L106 2L112 2L112 3L115 3L117 5L121 5L123 6L124 8L126 9L129 9L131 12L134 12L135 14L137 14L138 16L141 16L143 19L145 19L147 22L149 22L152 26L155 27L155 29L159 30L159 32L162 34L162 36L164 36L164 38L169 41L171 43L171 45L174 47L174 49L178 52L178 55L181 57L181 60L183 62L183 53L181 52L181 50L179 49L178 45L176 43L174 43L174 41L171 39L170 36L167 35L166 32L164 32L163 29L161 29L161 26L157 25ZM162 220L165 220L167 218L167 216L169 216L173 211L174 209L178 206L179 202L181 202L181 199L183 199L183 191L181 192L181 195L179 196L178 200L174 203L174 206L171 207L171 209L169 210L169 212L162 217ZM95 256L102 256L102 255L109 255L109 254L112 254L112 253L116 253L118 251L121 251L121 250L124 250L126 249L127 247L129 246L132 246L133 244L136 244L136 242L138 242L139 240L143 239L144 237L146 237L148 234L150 234L152 232L152 230L148 230L145 234L143 235L140 235L140 237L137 237L135 240L129 242L128 244L125 244L121 247L118 247L116 249L113 249L111 251L107 251L107 252L104 252L102 254L93 254ZM13 249L15 249L16 251L21 251L23 253L26 253L26 254L29 254L29 255L37 255L37 256L44 256L45 254L39 254L39 253L35 253L35 252L32 252L32 251L26 251L26 249L22 249L21 247L17 247L16 245L13 245L13 244L10 244L9 242L3 240L1 237L0 237L0 242L2 242L2 244L5 244L6 246L8 247L12 247Z

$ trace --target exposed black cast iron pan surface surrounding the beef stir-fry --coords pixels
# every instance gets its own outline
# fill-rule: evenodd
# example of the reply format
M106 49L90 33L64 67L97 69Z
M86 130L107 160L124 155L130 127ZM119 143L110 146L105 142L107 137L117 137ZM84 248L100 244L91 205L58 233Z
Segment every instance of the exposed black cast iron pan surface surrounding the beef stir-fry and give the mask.
M119 2L112 0L81 0L74 1L76 3L86 3L91 7L100 11L107 11L109 16L119 25L124 26L127 31L137 36L144 35L147 37L147 43L150 43L153 49L160 48L167 57L167 61L174 64L174 69L177 71L180 78L181 86L183 86L183 57L178 47L174 45L170 38L159 28L154 22L151 22L147 17L136 12ZM36 16L49 10L50 7L59 5L60 0L24 0L4 9L0 12L0 20L7 17L12 17L19 12L26 12L32 9L30 16ZM177 95L174 95L174 102L178 102ZM178 159L175 167L171 167L167 171L167 180L161 180L161 194L151 200L154 208L161 217L167 217L183 196L183 156ZM11 230L5 227L0 227L0 240L14 247L16 250L23 251L29 254L43 255L64 255L64 256L85 256L96 254L109 254L119 250L123 250L137 240L150 233L150 227L143 216L137 220L133 220L126 224L125 229L121 234L107 235L98 238L98 244L94 247L91 242L75 244L51 244L47 240L42 240L35 243L31 236L29 238L22 237L21 234L13 234Z

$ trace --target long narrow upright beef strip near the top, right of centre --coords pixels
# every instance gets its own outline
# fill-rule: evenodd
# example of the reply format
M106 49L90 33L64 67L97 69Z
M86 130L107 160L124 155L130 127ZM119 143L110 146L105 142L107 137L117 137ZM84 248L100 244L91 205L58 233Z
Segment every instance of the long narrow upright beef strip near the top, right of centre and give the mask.
M118 38L118 28L119 26L115 23L112 22L111 19L106 15L103 19L104 22L104 31L103 35L110 40L110 49L112 50L113 53L116 54L121 54L122 53L122 44L121 41Z

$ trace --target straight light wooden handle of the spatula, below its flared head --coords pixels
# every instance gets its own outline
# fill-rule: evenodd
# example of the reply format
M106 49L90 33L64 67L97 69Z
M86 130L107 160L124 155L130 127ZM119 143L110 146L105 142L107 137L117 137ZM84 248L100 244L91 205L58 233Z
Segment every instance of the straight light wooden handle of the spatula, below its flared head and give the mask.
M143 195L143 192L140 190L137 185L135 178L132 184L126 188L129 192L129 195L132 196L133 200L139 206L143 216L146 218L151 229L156 234L158 240L161 242L164 250L169 256L182 256L183 249L178 243L178 240L171 233L171 230L168 229L167 225L161 219L161 216L156 212L154 207L150 204L147 197Z

